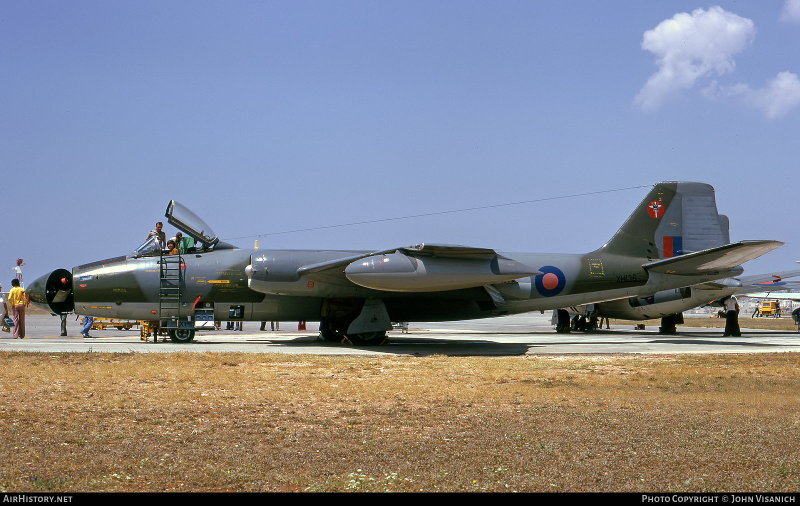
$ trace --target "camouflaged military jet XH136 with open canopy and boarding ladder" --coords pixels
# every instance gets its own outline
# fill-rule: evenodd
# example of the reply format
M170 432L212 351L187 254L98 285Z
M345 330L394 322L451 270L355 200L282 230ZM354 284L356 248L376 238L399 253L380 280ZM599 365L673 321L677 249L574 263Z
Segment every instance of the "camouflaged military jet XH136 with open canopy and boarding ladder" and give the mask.
M619 231L586 254L505 253L420 243L378 251L242 249L170 201L168 222L194 238L168 255L133 253L43 275L31 302L53 313L158 322L175 342L214 320L319 321L330 341L379 344L393 321L478 319L648 297L742 273L781 246L727 244L714 188L657 183Z

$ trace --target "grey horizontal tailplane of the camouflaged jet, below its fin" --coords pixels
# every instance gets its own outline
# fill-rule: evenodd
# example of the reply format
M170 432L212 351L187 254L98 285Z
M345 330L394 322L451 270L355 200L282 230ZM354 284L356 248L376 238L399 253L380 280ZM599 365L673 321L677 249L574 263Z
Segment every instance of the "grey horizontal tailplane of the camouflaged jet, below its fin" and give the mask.
M758 240L739 241L725 246L694 251L686 255L657 260L642 265L646 270L674 275L704 275L710 272L727 271L747 260L757 259L776 247L783 246L780 241Z

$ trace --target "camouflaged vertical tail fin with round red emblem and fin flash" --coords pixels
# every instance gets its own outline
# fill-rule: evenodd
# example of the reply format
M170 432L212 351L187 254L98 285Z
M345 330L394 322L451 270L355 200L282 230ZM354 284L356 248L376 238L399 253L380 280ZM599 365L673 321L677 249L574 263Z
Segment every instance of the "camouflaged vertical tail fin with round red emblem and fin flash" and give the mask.
M726 222L717 212L711 185L656 183L598 253L666 259L719 247L729 242Z

